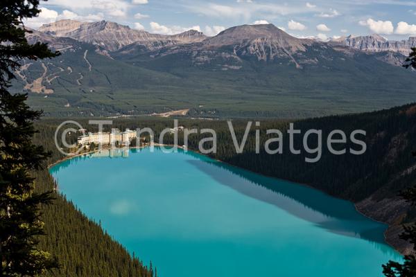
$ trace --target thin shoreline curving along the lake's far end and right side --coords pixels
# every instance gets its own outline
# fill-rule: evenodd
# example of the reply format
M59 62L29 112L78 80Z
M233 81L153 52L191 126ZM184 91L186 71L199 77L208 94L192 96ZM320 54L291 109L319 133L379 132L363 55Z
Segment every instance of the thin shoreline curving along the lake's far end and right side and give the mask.
M155 143L153 146L155 146L155 147L161 147L161 146L162 147L174 147L174 145L167 145L167 144L160 144L160 143ZM102 148L102 149L92 150L92 151L88 151L88 152L83 152L83 153L79 153L79 154L74 154L74 155L66 156L66 157L64 157L64 158L62 158L62 159L60 159L58 161L55 161L54 163L49 164L47 166L47 169L50 170L53 166L57 166L59 163L62 163L64 161L67 161L67 160L70 160L70 159L74 159L74 158L77 158L77 157L83 157L83 156L86 156L88 154L94 154L94 153L99 152L101 150L111 150L111 149L119 149L119 150L123 150L123 149L127 150L128 149L128 150L131 150L131 149L142 149L142 148L150 148L150 147L151 147L151 145L144 145L144 146L132 146L132 147L129 146L127 148ZM185 150L184 146L177 146L177 148L178 149ZM233 168L238 168L240 170L246 170L248 172L252 172L254 174L261 175L263 177L268 177L268 178L273 178L273 179L279 179L279 178L276 178L276 177L271 177L271 176L268 176L268 175L264 175L264 174L259 173L259 172L255 172L255 171L252 171L252 170L248 170L246 168L241 168L239 166L232 165L231 163L227 163L227 162L221 161L219 159L214 159L212 157L209 157L207 154L200 153L200 152L198 152L196 150L191 150L191 149L187 148L187 151L194 152L196 154L200 154L202 156L208 157L209 159L213 159L214 161L217 161L219 163L223 163L223 164L225 164L227 166L232 166ZM286 179L280 179L280 180L289 181L289 180L286 180ZM347 201L347 202L349 202L349 203L351 203L351 204L354 205L354 208L357 211L357 213L360 213L364 217L367 217L369 220L372 220L374 222L379 222L381 224L385 224L386 226L388 226L388 228L383 233L385 244L387 244L390 247L392 247L392 249L395 249L395 251L397 251L397 253L400 253L401 255L405 255L405 253L403 253L403 251L400 251L399 249L397 249L397 247L395 247L395 245L392 245L390 242L388 242L387 232L390 229L390 227L392 227L393 225L390 225L387 222L382 222L381 220L376 220L376 219L372 218L370 215L366 215L363 211L360 211L360 209L358 208L357 204L354 203L354 202L352 202L352 201L349 201L347 199L343 199L343 198L340 198L340 197L336 197L336 196L330 195L329 193L325 192L324 190L320 190L320 189L315 188L315 187L313 187L311 185L308 185L308 184L297 183L297 182L294 182L294 181L289 181L289 182L293 183L295 186L306 186L308 188L313 188L314 190L318 190L321 193L324 193L325 195L327 195L329 197L334 197L336 199L341 199L341 200Z

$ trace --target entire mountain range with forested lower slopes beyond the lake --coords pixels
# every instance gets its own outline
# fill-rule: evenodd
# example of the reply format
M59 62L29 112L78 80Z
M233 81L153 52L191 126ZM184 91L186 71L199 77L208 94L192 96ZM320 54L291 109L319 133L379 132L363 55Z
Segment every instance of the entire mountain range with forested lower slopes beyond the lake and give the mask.
M306 117L415 101L403 69L411 37L329 42L293 37L272 24L151 34L109 21L61 20L28 34L62 53L26 63L16 91L52 116L153 114Z

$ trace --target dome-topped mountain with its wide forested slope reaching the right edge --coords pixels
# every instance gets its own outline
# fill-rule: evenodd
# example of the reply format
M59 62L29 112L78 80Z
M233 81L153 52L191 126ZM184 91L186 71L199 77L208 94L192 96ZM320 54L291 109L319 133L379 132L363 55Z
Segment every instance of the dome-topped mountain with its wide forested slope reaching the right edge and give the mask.
M413 73L387 64L378 53L297 39L272 25L237 26L201 43L112 55L211 87L221 84L219 91L232 87L239 93L228 93L229 99L259 115L271 110L285 111L280 116L286 117L365 111L415 99ZM232 101L223 104L227 102ZM293 107L293 114L281 103ZM234 109L230 104L227 110Z

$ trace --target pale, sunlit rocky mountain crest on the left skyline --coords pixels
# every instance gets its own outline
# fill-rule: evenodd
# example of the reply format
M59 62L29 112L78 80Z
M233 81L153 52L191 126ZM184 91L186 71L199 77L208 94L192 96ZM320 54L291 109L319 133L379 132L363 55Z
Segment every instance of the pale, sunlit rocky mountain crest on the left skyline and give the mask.
M133 30L128 26L110 21L80 22L74 20L60 20L51 24L44 24L39 31L55 37L71 37L80 42L87 42L101 46L107 51L116 51L129 44L150 45L159 43L167 45L200 42L205 35L197 31L185 32L179 35L157 35L144 30Z

